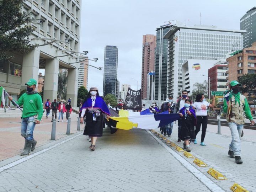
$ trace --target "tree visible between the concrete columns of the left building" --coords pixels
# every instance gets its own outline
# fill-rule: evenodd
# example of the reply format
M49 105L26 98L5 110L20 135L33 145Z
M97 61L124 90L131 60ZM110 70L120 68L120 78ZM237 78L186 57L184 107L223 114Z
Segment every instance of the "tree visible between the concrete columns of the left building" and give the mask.
M68 70L63 70L62 73L59 73L59 77L58 77L58 94L57 95L59 100L66 98L67 82L68 82Z

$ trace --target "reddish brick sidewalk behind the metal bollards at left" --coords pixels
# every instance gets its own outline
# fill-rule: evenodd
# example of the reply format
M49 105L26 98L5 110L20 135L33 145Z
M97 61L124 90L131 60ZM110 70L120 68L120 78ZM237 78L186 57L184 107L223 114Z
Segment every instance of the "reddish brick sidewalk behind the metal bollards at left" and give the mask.
M71 128L70 133L77 132L77 118L76 114L71 115ZM34 129L34 138L37 140L37 147L52 142L50 140L52 131L51 116L46 119L43 117L43 121L37 124ZM57 116L58 118L58 116ZM4 139L0 140L0 161L22 153L25 139L20 134L20 117L5 117L0 118L0 134ZM64 122L56 123L56 139L66 137L67 122L64 117ZM80 126L83 128L83 126Z

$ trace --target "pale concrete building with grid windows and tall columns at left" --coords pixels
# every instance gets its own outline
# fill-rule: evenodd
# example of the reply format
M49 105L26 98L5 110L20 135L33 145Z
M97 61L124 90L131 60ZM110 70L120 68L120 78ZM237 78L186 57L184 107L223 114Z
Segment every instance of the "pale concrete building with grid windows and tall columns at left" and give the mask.
M38 70L45 69L44 98L57 98L59 69L68 70L66 97L75 106L78 91L80 3L76 0L27 0L22 12L32 12L35 28L31 43L38 44L28 53L10 53L10 62L0 61L0 84L14 97L26 89L28 79L38 79ZM72 54L70 54L72 53ZM3 65L4 63L4 65ZM15 71L15 73L14 73ZM17 71L17 73L16 73Z

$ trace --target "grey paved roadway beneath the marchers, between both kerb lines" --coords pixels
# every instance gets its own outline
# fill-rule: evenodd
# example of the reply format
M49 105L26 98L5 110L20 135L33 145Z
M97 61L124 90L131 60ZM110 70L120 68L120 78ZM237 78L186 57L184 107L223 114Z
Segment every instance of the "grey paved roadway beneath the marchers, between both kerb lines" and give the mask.
M80 135L0 172L0 191L209 191L145 130L105 129L89 145Z

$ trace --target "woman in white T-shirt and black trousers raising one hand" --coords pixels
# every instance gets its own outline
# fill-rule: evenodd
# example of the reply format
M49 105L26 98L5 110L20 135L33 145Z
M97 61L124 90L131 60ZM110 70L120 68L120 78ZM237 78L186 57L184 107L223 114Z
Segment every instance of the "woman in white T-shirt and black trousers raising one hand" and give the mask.
M197 118L197 124L196 124L196 136L197 133L199 133L202 125L202 134L201 134L201 146L206 146L204 143L204 138L206 135L206 128L207 128L207 123L208 123L208 118L207 118L207 108L211 107L213 108L215 105L215 95L213 96L213 101L212 104L206 101L206 98L204 97L203 94L198 94L196 96L196 101L193 104L193 107L196 109L196 118ZM197 140L194 140L194 144L197 144Z

